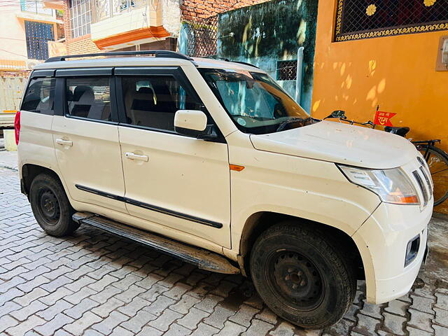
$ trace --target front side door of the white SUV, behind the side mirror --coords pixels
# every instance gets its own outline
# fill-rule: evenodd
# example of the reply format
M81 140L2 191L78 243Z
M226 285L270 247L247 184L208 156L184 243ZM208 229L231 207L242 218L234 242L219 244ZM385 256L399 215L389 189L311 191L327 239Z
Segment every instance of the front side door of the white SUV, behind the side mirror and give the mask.
M207 113L181 68L116 68L125 202L153 224L230 247L228 146L174 132L179 109ZM209 117L209 123L213 120Z

